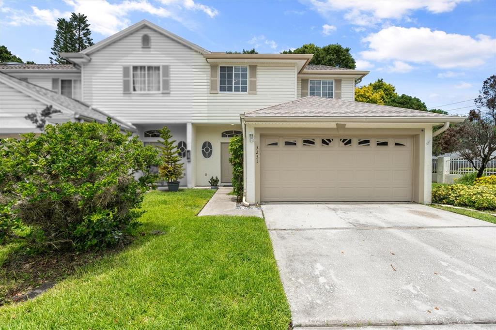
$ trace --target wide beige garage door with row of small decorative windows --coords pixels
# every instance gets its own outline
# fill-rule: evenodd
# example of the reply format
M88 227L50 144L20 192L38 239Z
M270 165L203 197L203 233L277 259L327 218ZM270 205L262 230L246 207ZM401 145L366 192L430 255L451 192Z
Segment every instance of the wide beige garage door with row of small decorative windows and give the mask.
M411 201L411 137L261 136L262 202Z

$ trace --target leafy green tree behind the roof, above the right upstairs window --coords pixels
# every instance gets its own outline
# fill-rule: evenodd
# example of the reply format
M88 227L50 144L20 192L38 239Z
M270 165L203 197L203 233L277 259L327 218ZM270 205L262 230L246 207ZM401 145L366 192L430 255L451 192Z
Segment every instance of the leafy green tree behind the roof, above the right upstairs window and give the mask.
M313 54L310 64L355 69L355 59L350 51L351 49L349 47L344 48L339 44L330 44L324 47L318 47L315 44L305 44L293 51L283 51L281 54Z

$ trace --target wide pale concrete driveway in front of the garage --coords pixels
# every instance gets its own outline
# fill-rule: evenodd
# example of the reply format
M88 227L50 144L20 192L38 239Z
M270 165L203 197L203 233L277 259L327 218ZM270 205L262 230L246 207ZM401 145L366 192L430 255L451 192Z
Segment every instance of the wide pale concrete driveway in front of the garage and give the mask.
M418 204L262 210L296 327L496 323L492 223Z

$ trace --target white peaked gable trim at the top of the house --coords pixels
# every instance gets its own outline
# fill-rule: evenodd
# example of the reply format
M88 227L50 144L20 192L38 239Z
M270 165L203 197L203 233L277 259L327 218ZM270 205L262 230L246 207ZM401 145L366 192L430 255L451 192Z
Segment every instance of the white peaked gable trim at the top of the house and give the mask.
M160 34L162 34L162 35L164 35L164 36L166 36L166 37L168 37L168 38L170 38L170 39L172 39L172 40L174 40L174 41L176 41L176 42L178 42L178 43L180 43L180 44L182 44L182 45L184 45L184 46L186 46L186 47L188 47L188 48L192 49L193 51L196 51L200 54L209 54L210 53L206 49L201 48L200 46L195 45L195 44L187 41L186 39L181 38L180 36L170 32L170 31L167 31L166 29L164 29L158 25L153 24L150 21L147 21L146 19L144 19L144 20L142 20L136 24L133 24L133 25L125 28L122 31L117 32L116 34L96 43L93 46L90 46L90 47L82 50L79 53L84 54L84 55L90 55L92 53L95 53L98 50L105 48L108 45L115 43L116 41L119 41L120 39L124 38L125 36L127 36L131 33L134 33L143 27L148 27L152 30L155 30L158 33L160 33Z

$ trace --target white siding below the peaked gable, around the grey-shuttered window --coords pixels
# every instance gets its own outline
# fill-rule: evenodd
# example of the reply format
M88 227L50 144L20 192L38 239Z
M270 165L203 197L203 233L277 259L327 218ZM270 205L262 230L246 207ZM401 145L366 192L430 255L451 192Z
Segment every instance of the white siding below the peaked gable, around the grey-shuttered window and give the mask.
M141 48L143 34L151 48ZM124 65L170 65L170 94L124 94ZM209 70L201 54L143 28L91 54L83 66L84 101L132 123L187 122L205 112Z

